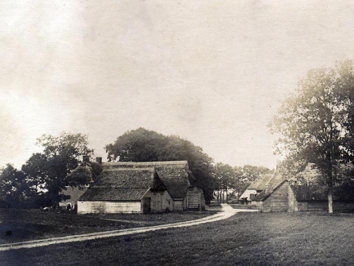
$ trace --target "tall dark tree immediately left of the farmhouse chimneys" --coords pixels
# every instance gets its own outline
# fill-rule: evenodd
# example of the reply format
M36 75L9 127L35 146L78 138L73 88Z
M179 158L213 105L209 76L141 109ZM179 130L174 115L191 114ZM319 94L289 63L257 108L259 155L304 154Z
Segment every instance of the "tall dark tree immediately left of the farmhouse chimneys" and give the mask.
M93 149L87 147L86 135L65 132L57 137L43 135L37 144L43 147L43 152L32 154L22 170L37 197L41 197L40 202L57 204L63 197L59 192L66 184L66 175L79 165L83 155L91 155Z

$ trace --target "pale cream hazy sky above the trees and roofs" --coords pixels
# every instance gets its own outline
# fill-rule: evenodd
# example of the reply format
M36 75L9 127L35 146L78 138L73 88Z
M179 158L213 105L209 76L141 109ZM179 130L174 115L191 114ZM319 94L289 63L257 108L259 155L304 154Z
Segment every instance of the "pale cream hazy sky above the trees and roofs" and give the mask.
M267 123L308 70L353 59L348 1L1 1L0 167L36 138L179 135L273 168Z

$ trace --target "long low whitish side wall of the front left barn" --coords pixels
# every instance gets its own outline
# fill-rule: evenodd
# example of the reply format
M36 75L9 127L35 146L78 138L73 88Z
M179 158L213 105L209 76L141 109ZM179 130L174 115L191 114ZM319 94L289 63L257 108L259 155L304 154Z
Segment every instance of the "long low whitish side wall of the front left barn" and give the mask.
M139 213L140 200L77 201L77 213Z

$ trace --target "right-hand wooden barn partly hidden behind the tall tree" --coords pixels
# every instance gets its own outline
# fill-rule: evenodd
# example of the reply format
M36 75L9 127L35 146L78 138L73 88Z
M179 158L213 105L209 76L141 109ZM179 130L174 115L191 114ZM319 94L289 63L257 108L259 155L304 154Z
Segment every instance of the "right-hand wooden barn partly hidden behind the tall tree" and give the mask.
M312 163L299 169L296 177L304 180L313 181L320 175L318 169ZM315 211L328 208L328 201L325 193L318 191L318 188L298 186L294 187L292 178L283 178L279 167L271 176L265 189L259 193L252 202L258 210L263 212L281 211ZM333 197L333 209L337 211L354 210L354 202Z

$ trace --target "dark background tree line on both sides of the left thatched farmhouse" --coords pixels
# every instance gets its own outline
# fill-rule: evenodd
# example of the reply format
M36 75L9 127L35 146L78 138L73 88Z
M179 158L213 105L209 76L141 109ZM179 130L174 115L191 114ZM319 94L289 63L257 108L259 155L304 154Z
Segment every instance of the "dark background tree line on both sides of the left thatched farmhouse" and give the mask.
M37 139L37 145L43 151L33 153L20 169L7 164L0 170L0 206L57 205L65 199L60 191L74 182L67 180L67 174L82 162L83 155L93 155L83 134L43 135ZM125 132L106 145L105 150L108 161L187 160L193 174L190 181L203 189L206 201L213 198L214 191L227 193L232 189L241 193L259 173L269 170L251 165L243 168L222 163L213 165L213 159L190 141L144 128Z

